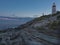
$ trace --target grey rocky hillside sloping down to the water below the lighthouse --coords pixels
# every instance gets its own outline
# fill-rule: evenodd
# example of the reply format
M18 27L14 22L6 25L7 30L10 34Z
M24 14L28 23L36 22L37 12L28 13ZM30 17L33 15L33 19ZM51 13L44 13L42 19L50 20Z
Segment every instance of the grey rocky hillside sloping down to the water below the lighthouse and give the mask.
M60 45L60 12L0 31L0 45Z

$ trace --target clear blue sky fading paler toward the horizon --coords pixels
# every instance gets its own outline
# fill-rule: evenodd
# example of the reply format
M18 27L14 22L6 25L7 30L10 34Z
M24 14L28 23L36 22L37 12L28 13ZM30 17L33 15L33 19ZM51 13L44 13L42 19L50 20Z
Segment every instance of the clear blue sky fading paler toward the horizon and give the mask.
M50 14L52 4L60 10L60 0L0 0L0 16L36 17Z

